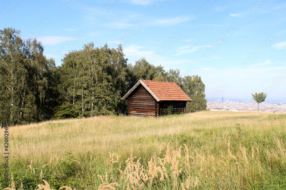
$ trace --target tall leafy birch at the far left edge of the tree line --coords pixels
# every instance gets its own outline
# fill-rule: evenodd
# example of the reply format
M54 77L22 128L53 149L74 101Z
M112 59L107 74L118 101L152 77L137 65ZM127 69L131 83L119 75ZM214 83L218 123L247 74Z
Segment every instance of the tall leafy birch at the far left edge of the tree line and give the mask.
M25 100L27 70L23 56L20 31L13 28L0 30L0 102L1 123L18 123Z

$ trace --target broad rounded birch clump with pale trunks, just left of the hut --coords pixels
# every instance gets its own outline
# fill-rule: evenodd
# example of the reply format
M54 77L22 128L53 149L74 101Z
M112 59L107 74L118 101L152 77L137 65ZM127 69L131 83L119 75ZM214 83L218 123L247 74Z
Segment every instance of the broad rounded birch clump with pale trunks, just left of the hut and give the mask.
M89 43L69 52L60 68L62 99L74 105L79 117L121 113L126 104L121 101L126 91L126 62L121 46L95 48Z

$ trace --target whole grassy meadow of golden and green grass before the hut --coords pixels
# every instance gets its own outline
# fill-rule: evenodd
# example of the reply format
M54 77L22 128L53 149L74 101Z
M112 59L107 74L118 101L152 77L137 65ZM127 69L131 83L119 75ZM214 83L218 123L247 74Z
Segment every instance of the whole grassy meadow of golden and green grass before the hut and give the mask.
M9 188L286 189L285 142L286 114L262 112L11 126Z

